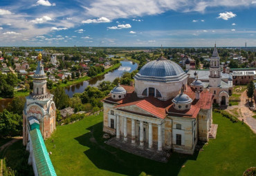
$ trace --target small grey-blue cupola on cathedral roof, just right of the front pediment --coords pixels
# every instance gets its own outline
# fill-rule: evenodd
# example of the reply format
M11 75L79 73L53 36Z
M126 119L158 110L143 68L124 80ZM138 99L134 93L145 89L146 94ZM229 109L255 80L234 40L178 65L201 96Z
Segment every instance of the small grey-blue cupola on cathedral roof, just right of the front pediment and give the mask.
M174 103L174 108L176 110L188 110L192 104L192 99L188 97L188 95L183 93L183 88L181 89L181 93L177 95L172 102Z

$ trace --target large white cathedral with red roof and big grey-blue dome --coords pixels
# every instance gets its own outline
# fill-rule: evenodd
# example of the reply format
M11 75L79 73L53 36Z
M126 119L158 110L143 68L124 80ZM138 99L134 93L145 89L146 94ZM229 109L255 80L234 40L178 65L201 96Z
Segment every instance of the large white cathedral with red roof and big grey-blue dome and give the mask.
M219 59L214 56L212 88L219 84ZM145 151L193 154L197 141L208 141L217 128L212 124L212 91L196 78L188 85L188 77L178 64L162 56L140 69L135 86L113 88L103 99L103 131L115 136L109 141L123 150L125 144Z

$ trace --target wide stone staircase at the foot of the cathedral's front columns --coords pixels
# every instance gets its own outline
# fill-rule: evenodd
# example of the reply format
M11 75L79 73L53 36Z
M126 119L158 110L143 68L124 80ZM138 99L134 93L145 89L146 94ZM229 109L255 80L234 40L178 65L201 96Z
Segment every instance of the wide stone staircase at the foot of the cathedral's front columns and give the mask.
M105 143L108 144L109 146L119 148L120 150L124 150L128 153L132 153L140 157L145 157L147 159L152 159L157 162L167 163L169 157L171 156L170 150L158 151L156 146L154 146L152 149L149 149L145 147L147 146L146 144L144 147L140 147L138 145L138 142L137 144L134 145L131 144L129 140L125 142L122 141L122 139L116 139L116 137L112 137L108 141L105 141Z

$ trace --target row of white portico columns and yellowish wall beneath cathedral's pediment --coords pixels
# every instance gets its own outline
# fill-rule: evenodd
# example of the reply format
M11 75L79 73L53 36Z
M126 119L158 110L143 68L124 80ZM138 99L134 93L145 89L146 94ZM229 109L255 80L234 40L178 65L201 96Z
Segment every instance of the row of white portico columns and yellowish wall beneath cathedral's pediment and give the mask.
M163 146L163 119L152 119L138 117L132 114L116 110L116 139L129 142L141 148L153 148L153 143L157 150L162 150ZM157 133L153 139L154 133Z

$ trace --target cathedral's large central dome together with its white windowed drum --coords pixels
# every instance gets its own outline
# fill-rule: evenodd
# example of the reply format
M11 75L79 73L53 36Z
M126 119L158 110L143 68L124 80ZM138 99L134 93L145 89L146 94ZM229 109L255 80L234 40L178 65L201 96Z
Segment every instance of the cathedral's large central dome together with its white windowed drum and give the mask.
M188 75L177 63L160 57L143 66L134 77L138 97L156 97L166 101L179 94Z

